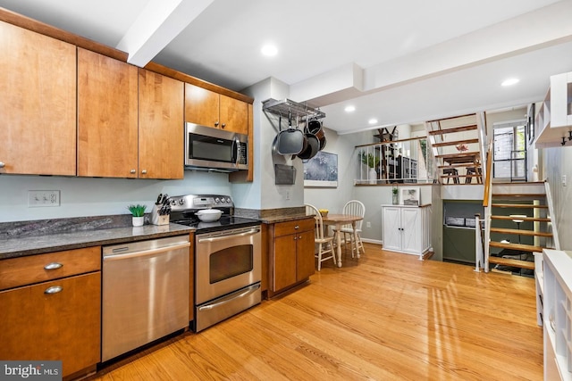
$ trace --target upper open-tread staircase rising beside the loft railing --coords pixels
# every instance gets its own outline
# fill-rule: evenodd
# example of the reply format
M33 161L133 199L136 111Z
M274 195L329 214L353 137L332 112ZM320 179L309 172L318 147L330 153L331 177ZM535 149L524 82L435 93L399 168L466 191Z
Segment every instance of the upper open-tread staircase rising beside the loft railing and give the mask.
M483 184L481 131L477 114L425 123L442 184Z

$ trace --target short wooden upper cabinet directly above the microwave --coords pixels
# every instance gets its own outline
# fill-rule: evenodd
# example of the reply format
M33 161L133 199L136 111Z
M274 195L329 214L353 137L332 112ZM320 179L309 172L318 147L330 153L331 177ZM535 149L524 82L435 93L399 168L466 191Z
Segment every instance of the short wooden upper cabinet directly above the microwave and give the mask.
M187 83L185 121L247 135L248 104Z

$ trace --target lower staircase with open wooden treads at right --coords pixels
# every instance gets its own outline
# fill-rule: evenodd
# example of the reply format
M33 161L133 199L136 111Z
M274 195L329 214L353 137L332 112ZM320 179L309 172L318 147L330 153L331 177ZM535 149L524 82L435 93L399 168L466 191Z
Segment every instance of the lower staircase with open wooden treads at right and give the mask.
M489 269L534 275L533 253L553 247L543 183L492 186Z

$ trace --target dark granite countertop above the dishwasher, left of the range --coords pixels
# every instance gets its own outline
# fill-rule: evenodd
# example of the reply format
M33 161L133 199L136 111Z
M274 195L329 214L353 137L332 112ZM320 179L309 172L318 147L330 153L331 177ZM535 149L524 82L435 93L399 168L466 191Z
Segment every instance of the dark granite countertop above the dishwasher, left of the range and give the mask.
M169 224L144 225L137 228L89 229L42 236L14 236L0 239L0 260L104 244L122 244L165 236L181 236L194 230L195 228Z

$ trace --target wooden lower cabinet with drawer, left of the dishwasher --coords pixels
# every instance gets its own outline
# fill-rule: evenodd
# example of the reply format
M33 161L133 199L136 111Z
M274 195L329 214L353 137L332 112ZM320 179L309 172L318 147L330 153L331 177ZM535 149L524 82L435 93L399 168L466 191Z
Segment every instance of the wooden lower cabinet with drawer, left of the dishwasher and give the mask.
M63 377L101 353L101 247L0 261L0 359L61 360Z

